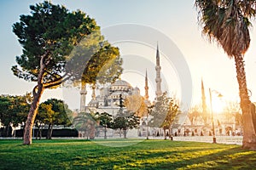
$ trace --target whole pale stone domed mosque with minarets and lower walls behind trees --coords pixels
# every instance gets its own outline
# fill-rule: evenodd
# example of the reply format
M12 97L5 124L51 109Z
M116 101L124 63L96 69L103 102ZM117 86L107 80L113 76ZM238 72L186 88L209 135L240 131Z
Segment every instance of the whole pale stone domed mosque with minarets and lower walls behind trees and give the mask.
M159 47L157 45L156 49L156 65L155 65L155 71L156 71L156 77L155 77L155 83L156 83L156 91L155 91L155 99L160 97L162 95L161 91L161 77L160 77L160 52ZM148 96L148 73L146 71L145 75L145 94L144 94L144 103L147 106L152 105L149 101ZM131 95L141 95L139 88L134 88L131 86L129 82L126 82L124 80L117 80L116 82L113 82L113 84L109 85L106 88L100 88L97 89L96 95L96 87L92 87L92 95L91 100L89 101L88 105L85 105L85 96L87 92L86 89L82 87L80 91L80 111L83 112L107 112L108 114L112 116L116 116L117 113L120 111L120 100L121 98L125 100L128 96ZM123 111L126 111L126 108L123 108ZM146 136L146 127L147 127L147 116L143 116L141 118L140 126L138 129L132 129L129 130L127 133L127 136ZM81 136L83 135L83 132L79 132ZM157 133L162 134L160 128L150 128L148 131L149 134ZM80 135L79 134L79 135ZM112 129L108 129L108 136L115 136L116 131L113 131ZM119 135L119 134L116 134Z

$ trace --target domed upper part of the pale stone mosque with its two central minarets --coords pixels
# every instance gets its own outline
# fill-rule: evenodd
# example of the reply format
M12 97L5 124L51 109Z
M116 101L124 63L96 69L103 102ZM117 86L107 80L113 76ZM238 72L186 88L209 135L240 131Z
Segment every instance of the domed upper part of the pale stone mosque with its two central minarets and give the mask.
M155 65L155 71L156 71L156 77L155 77L155 83L156 83L156 99L160 95L162 95L161 91L161 77L160 77L160 52L157 45L156 49L156 65ZM125 80L118 79L116 82L113 82L113 84L109 85L106 88L100 88L99 89L99 95L96 95L96 87L92 88L92 95L91 100L88 103L88 105L85 106L85 95L87 94L84 89L81 90L81 103L80 103L80 111L85 112L107 112L108 114L111 114L115 116L119 109L120 109L120 98L125 100L128 96L131 95L141 95L139 88L134 88L131 86L129 82L126 82ZM146 71L145 75L145 94L144 94L144 102L146 105L151 105L151 102L148 100L148 75ZM124 108L125 111L125 108Z

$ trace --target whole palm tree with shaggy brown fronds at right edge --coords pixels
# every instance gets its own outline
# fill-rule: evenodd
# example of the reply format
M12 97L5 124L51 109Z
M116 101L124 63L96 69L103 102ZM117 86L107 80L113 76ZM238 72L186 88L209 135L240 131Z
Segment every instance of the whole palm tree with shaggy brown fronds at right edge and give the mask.
M253 124L255 113L252 114L243 57L250 45L249 19L256 14L255 5L252 0L195 0L203 34L235 59L243 118L242 146L252 150L256 150L256 123Z

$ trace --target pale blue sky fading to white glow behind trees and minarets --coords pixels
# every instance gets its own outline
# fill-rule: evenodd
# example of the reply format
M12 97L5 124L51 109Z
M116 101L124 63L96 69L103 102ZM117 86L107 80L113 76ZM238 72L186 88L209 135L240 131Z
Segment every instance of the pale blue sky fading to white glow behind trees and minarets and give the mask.
M15 65L15 56L20 55L22 48L17 37L12 32L12 26L19 21L20 14L29 14L29 5L40 3L34 0L9 0L0 2L0 94L21 95L31 92L34 82L26 82L15 77L11 66ZM102 34L107 32L106 39L111 42L115 26L124 26L121 34L131 33L132 26L139 26L146 31L156 31L148 35L145 42L115 41L113 45L119 47L124 58L124 75L122 76L132 86L141 89L144 95L144 71L149 72L149 96L154 99L154 65L145 65L144 61L154 64L155 48L158 42L160 49L160 63L162 66L162 89L168 90L170 95L182 99L183 92L191 93L189 102L197 105L201 102L201 79L206 89L209 101L208 88L218 91L224 96L224 102L239 101L238 83L236 80L236 66L234 59L229 59L223 49L216 43L210 43L201 34L198 25L197 11L192 0L52 0L52 3L63 4L69 10L80 9L96 20L102 28ZM125 27L126 26L126 27ZM128 27L127 27L128 26ZM253 26L256 26L253 21ZM109 33L109 28L110 32ZM251 27L251 45L245 54L245 69L247 73L247 88L252 91L251 100L256 101L256 31ZM143 34L143 32L142 32ZM156 35L164 35L163 38ZM139 36L139 35L138 35ZM167 38L173 42L172 45ZM121 39L119 39L121 40ZM170 46L170 49L168 48ZM171 47L172 46L172 47ZM175 51L169 55L169 51ZM177 53L176 53L177 52ZM175 57L181 54L184 65L175 65ZM139 56L138 67L143 71L131 69L136 63L133 57ZM187 68L188 67L188 68ZM183 70L189 74L183 75ZM178 71L179 70L179 71ZM188 77L189 76L189 77ZM191 85L183 86L184 81L192 80ZM165 82L166 81L166 82ZM185 88L184 88L185 87ZM77 93L77 94L76 94ZM74 97L75 95L75 97ZM42 101L49 98L64 99L71 109L79 109L79 92L76 90L46 90ZM87 101L90 100L90 92ZM187 102L186 107L189 107Z

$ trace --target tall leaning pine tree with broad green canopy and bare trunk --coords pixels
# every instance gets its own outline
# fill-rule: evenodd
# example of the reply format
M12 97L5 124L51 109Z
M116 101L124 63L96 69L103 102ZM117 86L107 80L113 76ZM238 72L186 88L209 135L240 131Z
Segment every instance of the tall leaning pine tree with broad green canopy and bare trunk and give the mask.
M20 15L20 21L13 25L22 54L16 57L17 65L12 67L12 71L16 77L37 82L32 90L24 144L32 144L32 125L44 89L57 88L62 82L79 82L83 74L86 75L83 80L93 82L95 78L91 77L95 77L97 71L119 57L119 49L104 41L96 21L84 12L71 12L48 1L31 5L30 9L31 14ZM104 62L99 65L101 62L98 61ZM117 61L115 64L121 64L121 59ZM116 67L113 65L111 68ZM110 71L113 71L113 76L119 75L122 69Z

